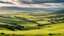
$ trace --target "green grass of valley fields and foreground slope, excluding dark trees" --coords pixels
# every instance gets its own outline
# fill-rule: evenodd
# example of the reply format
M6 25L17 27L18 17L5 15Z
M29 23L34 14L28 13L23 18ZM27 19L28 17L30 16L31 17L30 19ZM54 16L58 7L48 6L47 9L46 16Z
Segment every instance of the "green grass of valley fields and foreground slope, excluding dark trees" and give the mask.
M52 15L52 14L51 14ZM51 16L49 15L49 16ZM14 16L23 17L27 20L22 20L21 18L15 18ZM56 16L56 15L52 15ZM18 25L24 26L25 29L28 30L16 30L11 31L7 28L0 27L0 33L5 33L4 35L0 34L0 36L64 36L64 23L57 23L57 24L51 24L47 20L50 20L49 18L46 18L47 16L32 16L30 14L14 14L10 15L11 18L3 18L0 17L0 25L6 25L13 26L13 23L17 23ZM44 19L44 20L42 20ZM35 21L36 23L33 23L31 21ZM12 24L10 24L11 22ZM49 24L45 26L41 26L40 29L38 29L38 24ZM14 25L16 26L16 25ZM3 30L1 30L3 29ZM9 35L8 35L9 34Z

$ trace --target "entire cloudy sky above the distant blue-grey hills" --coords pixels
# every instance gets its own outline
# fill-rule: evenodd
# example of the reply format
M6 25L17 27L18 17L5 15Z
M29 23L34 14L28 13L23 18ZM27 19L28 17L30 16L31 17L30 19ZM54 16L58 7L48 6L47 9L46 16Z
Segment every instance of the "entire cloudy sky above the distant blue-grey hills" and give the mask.
M64 8L64 0L0 0L0 7Z

